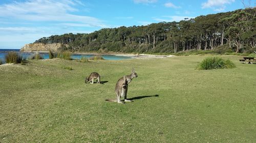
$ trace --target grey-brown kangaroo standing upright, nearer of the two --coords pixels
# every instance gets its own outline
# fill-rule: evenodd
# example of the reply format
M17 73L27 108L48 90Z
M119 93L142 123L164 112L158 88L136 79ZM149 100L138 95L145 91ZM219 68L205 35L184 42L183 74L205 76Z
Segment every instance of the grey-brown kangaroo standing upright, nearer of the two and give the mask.
M132 70L132 73L130 75L124 75L121 77L117 83L116 83L116 97L117 99L106 99L106 101L110 102L117 102L117 103L122 103L125 104L125 102L132 102L132 100L127 100L127 90L128 90L128 84L132 81L134 77L138 77L137 73L135 70ZM121 101L121 97L124 97L124 101Z

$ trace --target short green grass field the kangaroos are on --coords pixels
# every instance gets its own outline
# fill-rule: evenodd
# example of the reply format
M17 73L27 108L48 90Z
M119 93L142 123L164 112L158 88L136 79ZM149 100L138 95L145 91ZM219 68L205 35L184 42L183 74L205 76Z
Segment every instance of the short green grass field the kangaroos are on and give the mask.
M2 65L0 142L255 142L256 65L222 57L237 68L195 70L199 55ZM134 102L105 101L132 68ZM104 84L84 83L91 72Z

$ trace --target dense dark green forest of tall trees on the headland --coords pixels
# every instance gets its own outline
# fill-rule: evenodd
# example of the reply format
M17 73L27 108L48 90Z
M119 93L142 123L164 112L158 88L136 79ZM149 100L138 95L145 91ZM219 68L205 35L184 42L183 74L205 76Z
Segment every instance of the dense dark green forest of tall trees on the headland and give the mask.
M103 28L90 34L43 37L34 43L61 43L63 50L176 53L189 50L256 51L256 8L209 14L180 22Z

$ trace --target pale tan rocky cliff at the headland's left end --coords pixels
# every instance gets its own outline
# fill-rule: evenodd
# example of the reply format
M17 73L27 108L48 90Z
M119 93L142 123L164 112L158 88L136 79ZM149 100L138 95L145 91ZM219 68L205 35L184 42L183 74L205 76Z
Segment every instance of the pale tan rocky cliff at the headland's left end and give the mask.
M60 49L63 45L60 43L53 43L53 44L44 44L44 43L35 43L35 44L26 44L22 47L19 51L25 52L33 52L33 51L48 51L51 49L53 52Z

